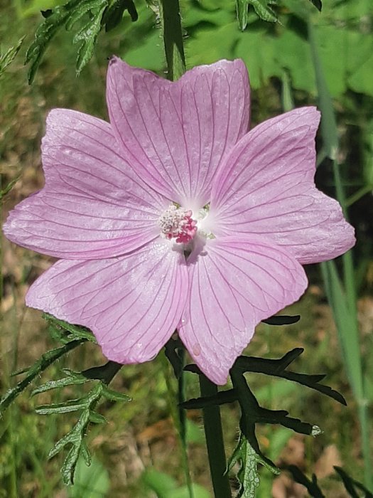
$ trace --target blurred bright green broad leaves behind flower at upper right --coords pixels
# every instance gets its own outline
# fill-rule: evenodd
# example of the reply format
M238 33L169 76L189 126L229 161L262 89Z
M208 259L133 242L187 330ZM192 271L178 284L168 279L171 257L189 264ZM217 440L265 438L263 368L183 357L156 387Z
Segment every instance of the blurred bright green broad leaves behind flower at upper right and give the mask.
M296 90L316 92L313 60L306 23L315 24L315 41L320 48L320 63L332 97L347 90L373 95L373 33L360 19L372 18L369 1L330 0L323 16L308 0L282 0L279 21L258 23L258 17L237 4L240 33L229 4L191 3L185 7L183 25L190 66L212 63L220 58L242 58L249 68L252 88L267 85L271 78L282 78L286 70ZM273 20L273 19L272 19ZM203 26L200 23L203 21ZM201 49L202 48L202 49Z

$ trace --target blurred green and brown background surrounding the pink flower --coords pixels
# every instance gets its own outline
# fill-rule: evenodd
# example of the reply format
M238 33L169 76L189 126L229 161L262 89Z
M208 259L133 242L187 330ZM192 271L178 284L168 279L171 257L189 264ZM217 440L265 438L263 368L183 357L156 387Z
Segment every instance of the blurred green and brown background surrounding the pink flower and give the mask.
M138 0L139 20L131 22L125 13L114 30L100 33L92 60L78 78L77 47L72 33L61 29L29 86L23 66L26 48L43 21L40 11L57 4L54 0L0 0L1 49L6 51L26 34L16 60L0 79L3 220L16 203L43 186L40 139L51 108L67 107L107 120L105 75L112 54L158 74L165 72L156 6ZM315 472L326 496L347 497L333 465L343 467L355 480L372 484L372 1L324 0L321 14L312 6L305 11L307 1L279 4L276 12L281 22L266 23L249 11L247 29L241 32L234 1L182 0L185 55L188 68L220 58L244 60L252 85L252 126L301 105L318 105L323 112L316 183L342 203L356 228L357 245L353 254L336 263L307 267L308 291L286 309L288 314L301 314L300 322L285 327L262 324L246 352L278 358L294 347L304 347L293 368L327 373L325 383L345 396L347 407L293 383L257 374L248 377L262 406L288 410L323 430L318 438L311 438L284 428L260 427L264 454L278 465L298 465L308 475ZM1 393L15 381L11 372L32 364L55 346L40 312L24 304L28 287L51 263L53 258L23 250L4 237L1 240ZM59 378L67 366L80 371L103 362L99 348L87 345L51 366L43 381ZM36 398L30 398L29 390L23 393L1 420L0 497L188 497L180 470L180 441L170 416L170 376L159 357L121 370L114 387L133 401L101 406L108 423L92 427L87 438L94 460L91 467L78 465L75 485L69 489L63 486L59 471L64 454L50 461L47 455L70 430L76 415L43 417L36 415L34 407L78 397L84 388L50 391ZM41 381L38 378L37 383ZM188 397L198 396L198 381L191 373L186 374L186 389ZM201 417L199 410L188 412L195 498L212 497ZM237 442L237 406L224 406L222 418L230 455ZM275 479L264 471L258 497L271 496L308 494L286 472Z

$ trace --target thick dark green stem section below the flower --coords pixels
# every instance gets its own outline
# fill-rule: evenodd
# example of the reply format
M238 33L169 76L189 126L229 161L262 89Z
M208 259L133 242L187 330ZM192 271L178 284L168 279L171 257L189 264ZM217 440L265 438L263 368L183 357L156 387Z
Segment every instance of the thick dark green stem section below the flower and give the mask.
M204 375L200 375L201 396L216 396L217 386L209 381ZM227 459L225 457L224 439L222 431L222 419L219 406L207 406L203 408L203 422L207 444L207 454L210 464L212 486L215 498L231 498L232 493L229 486Z

